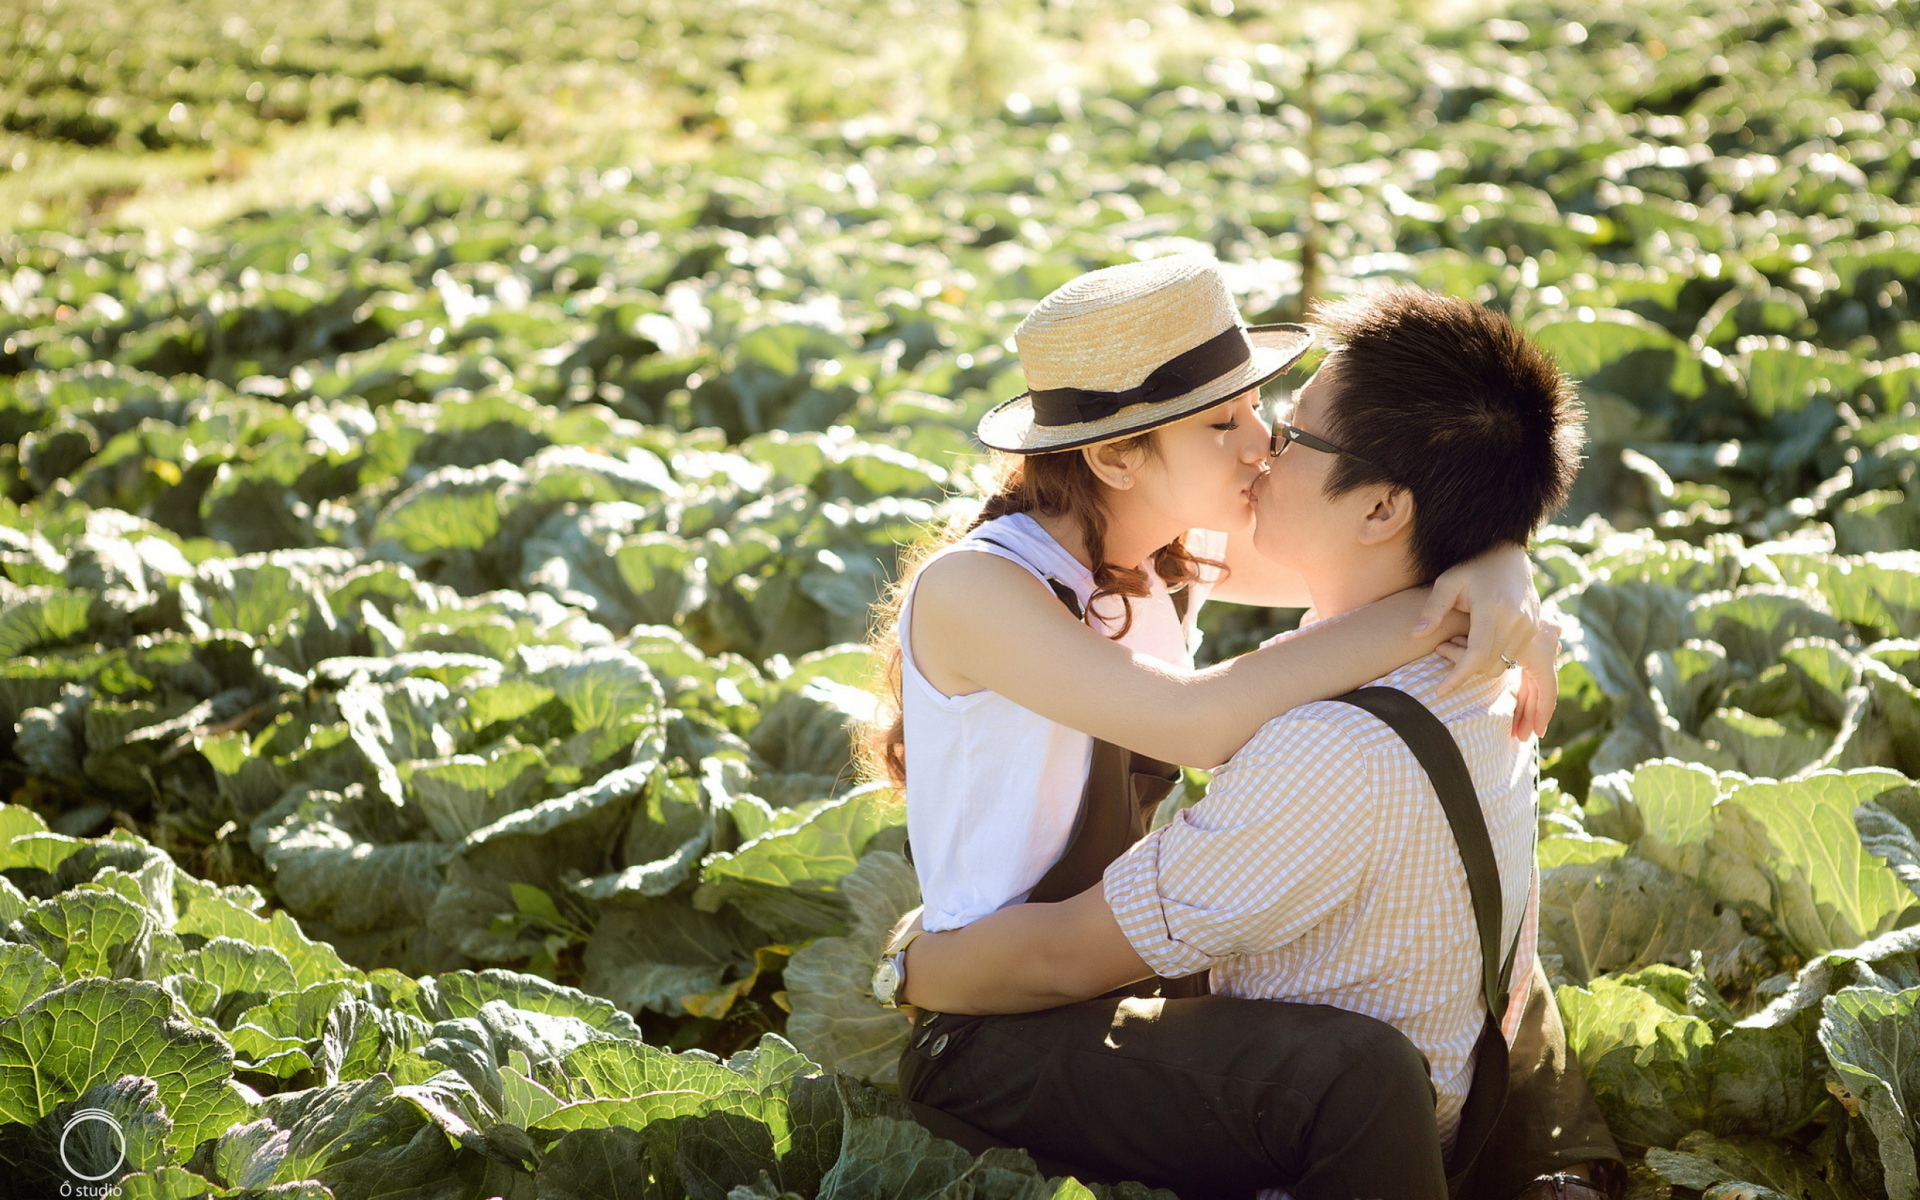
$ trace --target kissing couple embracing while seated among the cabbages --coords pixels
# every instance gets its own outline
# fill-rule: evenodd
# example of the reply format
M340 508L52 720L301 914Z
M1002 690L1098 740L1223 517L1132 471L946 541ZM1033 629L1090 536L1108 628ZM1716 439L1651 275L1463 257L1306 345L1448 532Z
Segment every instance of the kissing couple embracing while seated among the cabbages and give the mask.
M916 1116L1185 1200L1615 1192L1534 950L1524 545L1572 386L1419 290L1248 328L1202 257L1085 275L1014 340L1002 484L876 636L925 906L874 993ZM1208 599L1311 612L1196 670ZM1181 766L1215 774L1165 816Z

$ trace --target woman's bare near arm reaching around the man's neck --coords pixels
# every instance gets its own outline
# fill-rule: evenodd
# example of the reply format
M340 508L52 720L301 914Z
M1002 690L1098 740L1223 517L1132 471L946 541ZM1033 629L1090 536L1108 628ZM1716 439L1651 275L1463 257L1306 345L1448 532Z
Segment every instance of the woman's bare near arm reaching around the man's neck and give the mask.
M1423 588L1321 622L1277 645L1185 670L1089 630L1023 566L948 555L927 566L912 607L916 662L948 695L993 689L1023 708L1183 766L1219 766L1275 714L1323 701L1463 634L1448 612L1413 624ZM937 672L937 674L935 674Z

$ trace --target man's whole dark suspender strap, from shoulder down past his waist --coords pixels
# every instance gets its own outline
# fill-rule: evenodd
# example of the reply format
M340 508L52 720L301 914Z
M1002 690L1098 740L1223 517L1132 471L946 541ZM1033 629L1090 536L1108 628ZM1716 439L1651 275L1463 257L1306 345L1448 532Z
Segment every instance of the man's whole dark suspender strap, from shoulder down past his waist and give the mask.
M1473 1046L1473 1087L1461 1106L1453 1154L1448 1156L1446 1164L1448 1185L1457 1190L1486 1144L1488 1133L1500 1121L1500 1110L1507 1100L1507 1039L1500 1031L1500 1021L1507 1012L1507 983L1521 943L1515 937L1513 948L1501 958L1500 868L1494 860L1494 841L1486 833L1486 816L1480 812L1480 797L1473 787L1473 774L1467 770L1467 758L1459 753L1453 733L1425 705L1396 687L1361 687L1334 699L1365 708L1407 743L1434 791L1440 793L1440 808L1446 812L1453 841L1459 845L1461 866L1467 868L1467 895L1473 897L1473 918L1480 931L1480 998L1486 1016Z

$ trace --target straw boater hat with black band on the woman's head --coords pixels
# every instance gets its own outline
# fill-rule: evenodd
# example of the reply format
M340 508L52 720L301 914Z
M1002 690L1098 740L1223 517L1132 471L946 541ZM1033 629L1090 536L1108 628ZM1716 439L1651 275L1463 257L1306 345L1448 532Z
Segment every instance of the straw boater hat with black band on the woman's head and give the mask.
M1092 271L1014 330L1027 392L981 417L979 440L1037 455L1140 434L1265 384L1311 340L1300 324L1248 328L1212 259Z

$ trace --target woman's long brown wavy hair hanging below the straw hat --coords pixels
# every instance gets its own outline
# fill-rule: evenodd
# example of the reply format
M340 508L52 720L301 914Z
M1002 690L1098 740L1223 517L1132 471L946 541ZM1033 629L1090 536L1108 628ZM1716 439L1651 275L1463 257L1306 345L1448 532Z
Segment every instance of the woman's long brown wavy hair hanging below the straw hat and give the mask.
M1121 451L1158 453L1152 432L1135 434L1114 442ZM874 634L868 645L885 664L877 680L879 707L874 722L856 737L856 753L862 776L868 780L887 780L897 789L906 787L906 718L900 693L900 601L906 599L927 559L960 541L981 524L1008 516L1012 513L1035 513L1041 516L1068 516L1079 524L1081 540L1087 543L1087 557L1096 563L1092 568L1092 597L1089 607L1108 595L1117 595L1121 603L1119 628L1110 637L1123 637L1133 628L1133 599L1150 593L1150 580L1139 566L1117 566L1106 561L1106 499L1100 478L1087 465L1077 449L1062 449L1044 455L998 455L1000 484L981 507L979 515L966 524L950 524L900 555L900 576L887 589L887 595L874 609ZM1200 578L1200 568L1212 566L1225 572L1227 564L1213 559L1200 559L1187 551L1187 538L1175 538L1154 551L1154 574L1169 588L1181 588Z

